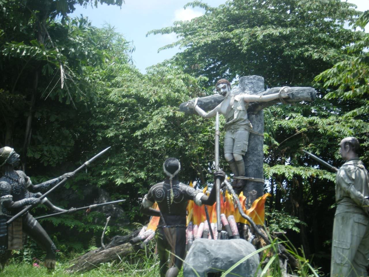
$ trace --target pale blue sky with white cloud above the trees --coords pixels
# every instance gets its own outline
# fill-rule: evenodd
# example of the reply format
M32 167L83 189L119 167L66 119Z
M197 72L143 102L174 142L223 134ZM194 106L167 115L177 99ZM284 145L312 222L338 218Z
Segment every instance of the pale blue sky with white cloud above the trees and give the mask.
M99 4L97 8L76 6L70 16L87 16L93 26L102 27L108 23L115 31L124 35L128 41L133 41L135 51L132 54L134 65L145 73L145 68L172 57L179 49L158 49L177 40L175 34L149 35L148 31L173 25L174 21L191 20L204 14L200 8L183 8L190 0L125 0L122 8ZM226 0L204 0L209 6L217 7ZM358 6L358 10L369 9L369 0L348 0Z

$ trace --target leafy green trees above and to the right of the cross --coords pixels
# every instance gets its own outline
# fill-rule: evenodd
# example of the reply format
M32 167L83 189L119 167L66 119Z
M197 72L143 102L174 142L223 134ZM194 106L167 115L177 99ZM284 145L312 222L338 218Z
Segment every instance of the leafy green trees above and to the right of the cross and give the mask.
M288 211L307 224L300 224L299 234L288 232L307 257L329 253L323 242L330 235L323 239L321 234L332 229L334 174L301 149L339 167L337 146L343 137L356 136L368 147L368 120L359 116L368 107L364 93L368 53L363 51L367 34L344 27L345 22L364 26L367 14L340 0L234 0L219 7L193 1L186 6L204 8L205 14L148 33L177 35L176 42L160 50L179 46L183 51L165 64L193 76L206 76L206 87L219 78L237 81L238 76L260 75L267 87L314 86L317 90L313 103L275 105L265 111L264 170L270 184L265 189L272 193L272 211ZM337 74L337 66L330 69L339 62L343 75ZM314 77L325 70L331 75L322 73L319 78L335 79L327 79L330 83L324 86ZM352 80L347 77L350 71ZM338 90L331 85L339 86L339 80L345 80L342 77L348 79L342 86L346 98L336 98ZM364 162L368 157L363 155ZM286 226L289 221L286 218Z

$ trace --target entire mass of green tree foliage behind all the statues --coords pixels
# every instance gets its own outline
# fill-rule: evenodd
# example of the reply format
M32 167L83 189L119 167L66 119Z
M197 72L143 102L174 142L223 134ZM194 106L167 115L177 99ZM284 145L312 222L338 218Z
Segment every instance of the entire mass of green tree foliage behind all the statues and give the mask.
M67 16L76 4L98 3L121 6L122 1L0 0L1 146L21 152L32 182L72 171L111 146L87 172L68 181L70 197L56 202L66 208L72 197L89 201L87 188L99 187L113 199L127 199L122 206L128 216L142 222L140 198L163 179L166 157L180 159L186 183L212 179L213 120L185 116L180 103L209 95L220 77L255 74L268 87L314 86L313 103L265 109L265 189L273 195L271 230L287 230L307 257L329 253L323 242L332 229L334 174L300 150L339 167L337 144L344 136L357 136L368 162L368 35L344 28L346 21L363 27L368 13L339 0L234 0L216 8L193 1L187 7L204 8L203 16L149 32L176 33L179 40L163 49L178 45L183 52L141 74L132 65L134 46L122 35ZM221 163L227 170L224 159ZM101 236L104 220L101 214L80 213L42 225L54 230L53 240L66 253L93 247L89 240ZM118 231L110 228L111 234ZM84 241L72 239L82 233ZM300 257L301 276L311 274L307 259ZM276 261L269 266L277 275ZM107 264L102 274L121 274L113 271Z

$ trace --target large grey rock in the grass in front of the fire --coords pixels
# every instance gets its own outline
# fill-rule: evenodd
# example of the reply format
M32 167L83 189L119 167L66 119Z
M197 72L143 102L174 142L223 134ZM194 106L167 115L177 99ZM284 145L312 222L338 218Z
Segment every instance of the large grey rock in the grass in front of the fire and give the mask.
M255 247L243 239L210 240L196 239L183 263L183 276L207 277L208 273L228 270L242 258L255 252ZM231 271L234 276L255 276L259 255L254 254ZM220 270L217 270L220 269Z

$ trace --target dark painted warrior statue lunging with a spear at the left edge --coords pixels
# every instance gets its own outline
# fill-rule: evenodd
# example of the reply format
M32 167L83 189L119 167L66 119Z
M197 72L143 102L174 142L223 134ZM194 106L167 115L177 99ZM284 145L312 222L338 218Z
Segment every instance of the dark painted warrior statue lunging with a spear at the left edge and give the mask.
M34 239L46 250L45 266L52 270L55 268L56 247L44 228L34 217L26 212L7 226L7 220L20 212L27 205L36 205L41 192L46 192L64 178L73 177L73 172L33 185L30 177L23 171L14 170L20 159L11 147L0 148L0 269L2 269L10 256L11 249L23 247L23 232ZM51 204L44 198L41 204L46 205L53 212L66 211ZM73 210L70 209L70 210Z

